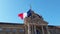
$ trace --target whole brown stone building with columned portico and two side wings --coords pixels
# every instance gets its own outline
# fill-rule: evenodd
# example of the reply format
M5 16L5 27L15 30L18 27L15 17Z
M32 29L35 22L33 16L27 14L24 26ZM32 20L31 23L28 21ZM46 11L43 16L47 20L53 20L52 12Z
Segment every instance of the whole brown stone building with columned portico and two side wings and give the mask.
M29 11L31 16L24 19L24 24L0 22L0 34L60 34L60 26L48 25L42 16Z

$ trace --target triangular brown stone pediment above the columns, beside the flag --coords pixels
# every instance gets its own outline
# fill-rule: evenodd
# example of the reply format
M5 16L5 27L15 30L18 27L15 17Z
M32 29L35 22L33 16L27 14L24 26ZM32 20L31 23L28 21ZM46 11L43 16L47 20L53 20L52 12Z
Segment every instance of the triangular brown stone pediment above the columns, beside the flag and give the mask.
M44 19L42 18L42 16L31 12L32 15L30 17L26 17L24 19L25 23L35 23L35 24L48 24L46 21L44 21Z

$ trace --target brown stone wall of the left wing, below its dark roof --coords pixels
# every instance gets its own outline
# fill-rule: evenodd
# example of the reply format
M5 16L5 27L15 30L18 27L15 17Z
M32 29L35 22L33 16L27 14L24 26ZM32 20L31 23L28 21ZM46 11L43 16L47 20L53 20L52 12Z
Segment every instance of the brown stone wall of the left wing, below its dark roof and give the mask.
M0 34L25 34L24 25L0 24Z

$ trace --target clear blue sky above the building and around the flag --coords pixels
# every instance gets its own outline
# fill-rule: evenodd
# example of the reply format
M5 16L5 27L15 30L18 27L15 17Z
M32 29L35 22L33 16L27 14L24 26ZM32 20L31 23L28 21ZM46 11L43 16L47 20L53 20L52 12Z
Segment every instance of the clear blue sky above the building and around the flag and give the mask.
M60 0L0 0L0 22L24 23L19 13L32 10L49 25L60 25Z

